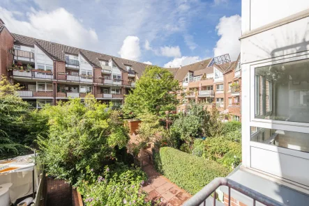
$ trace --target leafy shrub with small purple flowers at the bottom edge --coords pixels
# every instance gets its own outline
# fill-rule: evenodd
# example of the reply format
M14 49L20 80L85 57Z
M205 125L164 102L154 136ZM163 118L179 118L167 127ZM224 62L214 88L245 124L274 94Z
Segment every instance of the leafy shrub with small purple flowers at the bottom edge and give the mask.
M105 167L102 175L88 171L91 181L81 182L79 191L85 205L151 205L144 202L146 193L140 193L140 187L146 180L146 174L139 168L129 168L116 164L115 168Z

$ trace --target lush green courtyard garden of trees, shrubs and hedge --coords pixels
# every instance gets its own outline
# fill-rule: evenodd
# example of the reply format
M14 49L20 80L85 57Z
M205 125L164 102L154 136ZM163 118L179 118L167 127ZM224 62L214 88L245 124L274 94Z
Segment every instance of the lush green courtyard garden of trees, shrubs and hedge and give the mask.
M135 161L149 144L156 170L192 195L241 163L241 123L223 123L216 108L207 111L202 103L171 112L181 88L168 70L146 68L118 110L93 95L33 110L15 95L19 89L2 77L1 159L37 150L46 173L76 187L86 205L159 204L145 200L147 176ZM128 118L142 121L140 141L130 148Z

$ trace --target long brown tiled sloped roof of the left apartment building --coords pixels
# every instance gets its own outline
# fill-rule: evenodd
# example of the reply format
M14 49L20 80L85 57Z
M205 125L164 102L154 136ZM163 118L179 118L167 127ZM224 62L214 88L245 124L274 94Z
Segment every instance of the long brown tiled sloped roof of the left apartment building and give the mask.
M47 53L49 53L52 58L56 61L65 61L65 54L75 54L78 55L79 53L82 53L83 56L85 56L92 64L93 66L100 68L100 60L103 61L110 61L110 59L114 60L114 62L119 65L119 68L121 68L123 71L126 71L125 65L131 65L133 70L137 72L137 77L142 76L142 72L144 72L145 68L148 66L145 63L140 63L137 61L130 61L125 58L119 58L116 56L111 56L108 54L101 54L98 52L91 52L86 49L80 49L77 47L70 47L68 45L61 45L59 43L49 42L45 40L40 40L37 38L31 38L25 35L20 35L17 33L12 33L13 37L15 38L16 43L20 43L23 45L30 45L34 46L34 44L40 45Z

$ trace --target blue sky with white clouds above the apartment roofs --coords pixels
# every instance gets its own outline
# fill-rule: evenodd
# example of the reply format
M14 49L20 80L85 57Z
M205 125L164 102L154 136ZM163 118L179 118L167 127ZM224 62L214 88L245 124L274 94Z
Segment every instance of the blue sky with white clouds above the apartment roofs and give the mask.
M12 33L179 67L240 52L241 0L1 0Z

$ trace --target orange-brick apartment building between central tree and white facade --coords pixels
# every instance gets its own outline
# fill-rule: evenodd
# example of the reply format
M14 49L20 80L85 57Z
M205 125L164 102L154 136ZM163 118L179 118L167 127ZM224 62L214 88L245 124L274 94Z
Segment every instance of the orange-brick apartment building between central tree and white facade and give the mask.
M183 90L178 98L182 104L177 112L186 111L189 101L208 103L207 108L216 106L225 120L241 120L241 67L240 56L229 61L228 54L186 65L169 68Z

